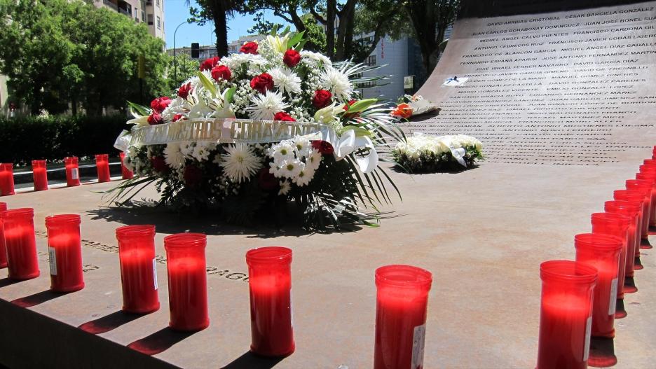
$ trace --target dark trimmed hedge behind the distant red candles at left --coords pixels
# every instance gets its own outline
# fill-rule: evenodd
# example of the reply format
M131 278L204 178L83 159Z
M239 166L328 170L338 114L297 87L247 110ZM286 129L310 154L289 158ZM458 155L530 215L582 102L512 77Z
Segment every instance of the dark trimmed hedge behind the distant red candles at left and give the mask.
M125 116L0 118L0 162L25 165L34 159L114 153Z

